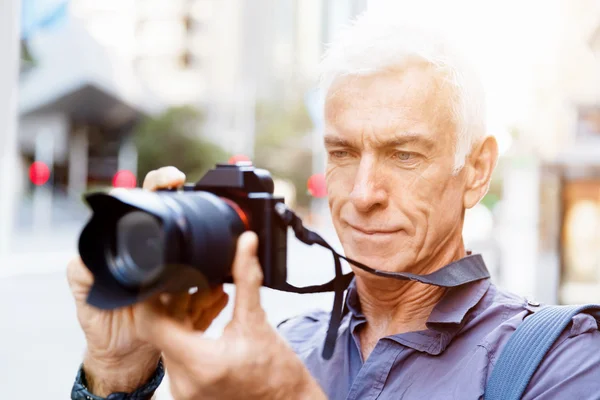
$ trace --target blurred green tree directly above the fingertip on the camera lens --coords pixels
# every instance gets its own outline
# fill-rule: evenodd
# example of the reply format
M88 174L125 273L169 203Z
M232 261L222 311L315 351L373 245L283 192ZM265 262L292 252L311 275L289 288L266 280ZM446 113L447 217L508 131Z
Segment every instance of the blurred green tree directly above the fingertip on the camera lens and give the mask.
M203 122L202 112L183 106L139 123L134 130L139 181L166 165L177 167L188 181L195 181L217 162L227 161L229 155L222 148L201 138Z

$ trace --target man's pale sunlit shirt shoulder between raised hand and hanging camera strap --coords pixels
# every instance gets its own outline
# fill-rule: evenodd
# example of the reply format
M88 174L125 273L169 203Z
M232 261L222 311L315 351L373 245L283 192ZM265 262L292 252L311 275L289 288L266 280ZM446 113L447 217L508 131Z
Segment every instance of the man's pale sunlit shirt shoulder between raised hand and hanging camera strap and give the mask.
M322 344L331 314L323 310L314 310L283 320L277 325L279 334L298 354L302 354Z

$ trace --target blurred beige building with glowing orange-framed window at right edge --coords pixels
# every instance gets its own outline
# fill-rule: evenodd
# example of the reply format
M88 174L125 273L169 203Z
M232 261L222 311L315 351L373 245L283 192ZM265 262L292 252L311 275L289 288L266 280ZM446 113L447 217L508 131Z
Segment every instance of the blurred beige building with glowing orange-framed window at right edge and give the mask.
M600 301L600 4L561 2L556 68L545 72L538 138L539 279L563 303ZM542 96L544 99L542 100Z

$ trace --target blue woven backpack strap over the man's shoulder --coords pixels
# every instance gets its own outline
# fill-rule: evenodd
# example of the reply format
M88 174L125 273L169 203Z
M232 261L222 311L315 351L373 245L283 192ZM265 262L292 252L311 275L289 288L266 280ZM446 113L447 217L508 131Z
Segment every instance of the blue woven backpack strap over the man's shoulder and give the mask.
M500 353L485 388L485 400L519 400L542 359L581 312L600 312L600 305L546 306L525 318Z

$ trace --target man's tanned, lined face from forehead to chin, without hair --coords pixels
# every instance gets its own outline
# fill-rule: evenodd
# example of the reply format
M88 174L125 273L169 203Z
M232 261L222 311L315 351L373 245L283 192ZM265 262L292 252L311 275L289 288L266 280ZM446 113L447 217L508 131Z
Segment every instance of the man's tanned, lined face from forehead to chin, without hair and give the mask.
M423 273L461 241L463 173L453 176L452 91L424 63L342 77L325 102L327 185L346 255Z

